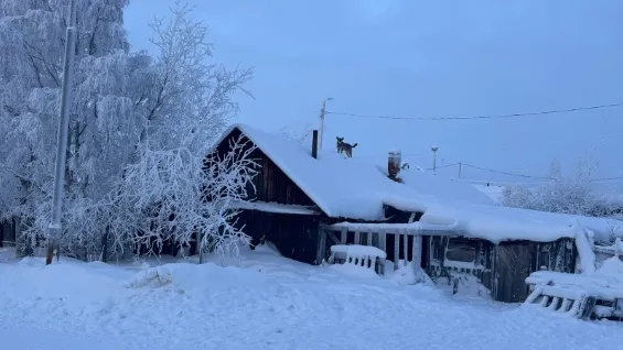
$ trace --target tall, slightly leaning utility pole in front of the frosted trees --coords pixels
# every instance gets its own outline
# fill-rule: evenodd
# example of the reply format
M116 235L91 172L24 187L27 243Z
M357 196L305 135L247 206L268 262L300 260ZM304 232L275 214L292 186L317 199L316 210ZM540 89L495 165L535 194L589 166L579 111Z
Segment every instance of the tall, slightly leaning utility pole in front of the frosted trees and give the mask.
M63 232L63 196L65 187L65 162L67 160L67 138L69 134L69 103L72 101L72 74L76 46L76 10L75 0L69 0L69 13L65 32L65 62L63 65L63 89L61 96L61 116L58 118L58 138L56 144L56 164L54 165L54 196L52 199L52 218L47 227L47 254L45 264L50 265L56 250L56 260L61 250L58 240Z

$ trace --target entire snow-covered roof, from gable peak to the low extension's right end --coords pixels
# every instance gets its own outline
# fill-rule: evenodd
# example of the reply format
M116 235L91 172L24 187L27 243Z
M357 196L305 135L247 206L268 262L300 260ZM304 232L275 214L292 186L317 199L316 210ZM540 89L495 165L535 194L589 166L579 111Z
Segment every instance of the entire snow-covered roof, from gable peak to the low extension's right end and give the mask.
M385 169L365 160L344 158L311 146L302 147L277 134L235 124L219 144L237 128L251 140L330 217L369 221L385 219L384 205L405 211L425 212L421 222L459 227L474 238L492 242L505 240L554 241L576 237L574 223L608 240L614 227L623 233L623 221L543 212L491 205L470 184L443 181L421 172L404 172L405 184L386 176ZM615 223L616 222L616 223Z

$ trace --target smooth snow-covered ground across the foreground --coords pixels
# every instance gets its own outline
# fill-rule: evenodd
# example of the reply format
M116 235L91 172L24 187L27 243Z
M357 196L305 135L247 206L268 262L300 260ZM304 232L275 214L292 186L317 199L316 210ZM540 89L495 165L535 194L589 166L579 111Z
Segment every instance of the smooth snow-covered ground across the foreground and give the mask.
M0 252L0 349L623 348L617 322L303 265L267 248L228 264L44 266Z

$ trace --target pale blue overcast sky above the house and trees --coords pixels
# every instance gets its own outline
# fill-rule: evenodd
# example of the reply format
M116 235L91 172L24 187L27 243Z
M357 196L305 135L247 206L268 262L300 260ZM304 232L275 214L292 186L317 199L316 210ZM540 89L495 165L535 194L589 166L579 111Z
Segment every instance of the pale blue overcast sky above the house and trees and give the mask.
M469 117L623 102L623 1L187 0L210 25L214 61L255 67L236 122L268 131L318 125L327 110L395 117ZM131 0L133 50L153 51L148 23L173 0ZM432 166L461 162L547 176L580 157L595 177L623 176L623 107L508 119L391 120L327 114L354 156ZM458 177L458 166L439 169ZM463 166L462 178L533 183ZM623 181L609 183L623 186Z

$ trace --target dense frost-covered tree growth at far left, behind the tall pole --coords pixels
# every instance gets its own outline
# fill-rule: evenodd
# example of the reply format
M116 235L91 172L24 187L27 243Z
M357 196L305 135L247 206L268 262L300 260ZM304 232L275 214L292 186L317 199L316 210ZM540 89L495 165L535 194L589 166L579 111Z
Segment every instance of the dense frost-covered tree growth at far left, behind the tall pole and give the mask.
M73 86L76 94L71 107L67 208L74 206L73 200L96 201L106 193L95 185L100 185L98 179L106 175L107 167L98 162L103 147L97 146L97 141L108 120L89 112L96 106L94 101L122 101L128 97L123 81L98 78L103 72L116 72L117 66L107 66L107 62L129 57L122 28L122 8L127 3L127 0L77 1ZM0 141L4 151L0 153L1 215L21 218L32 232L39 233L44 230L50 211L67 4L67 0L0 2L0 128L6 135ZM98 94L110 85L116 85L116 91ZM119 154L110 145L105 149ZM100 178L94 178L96 173Z

